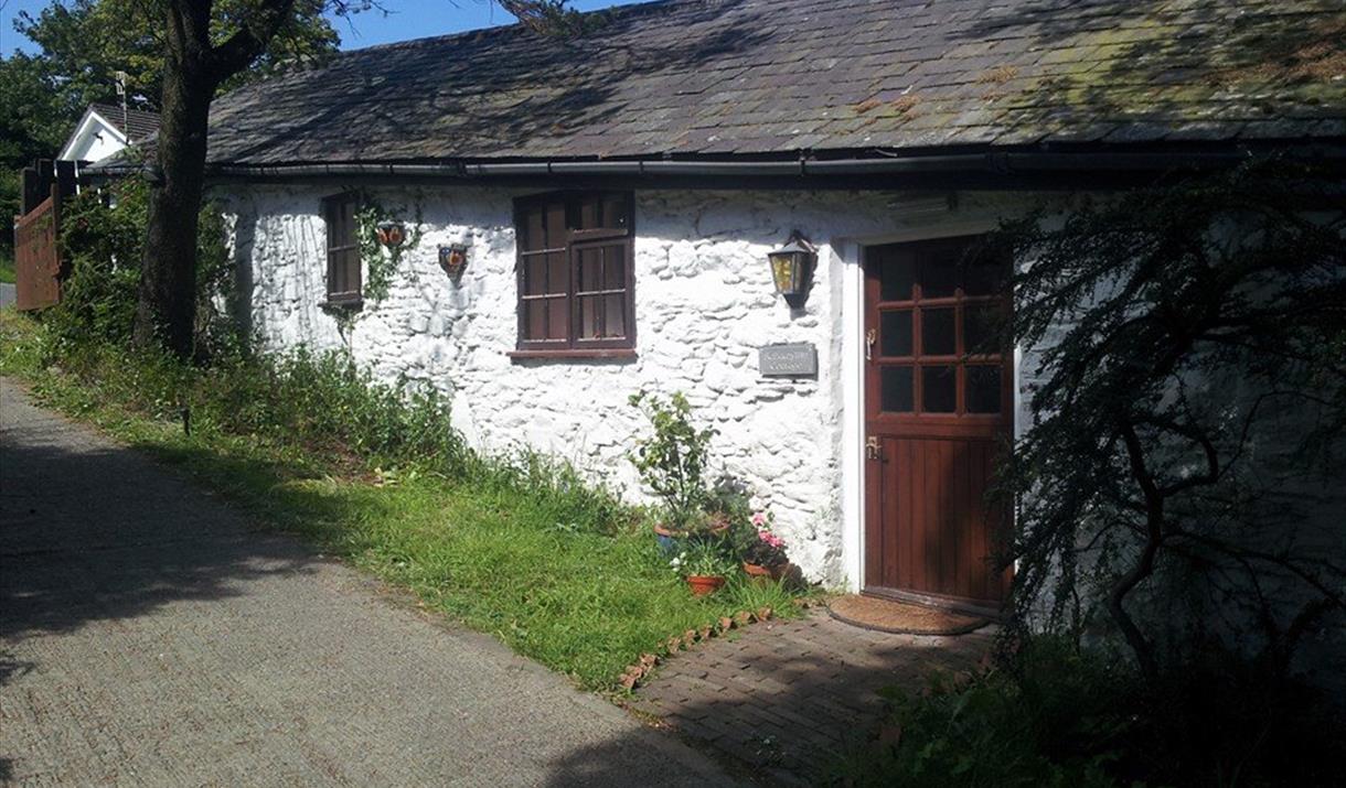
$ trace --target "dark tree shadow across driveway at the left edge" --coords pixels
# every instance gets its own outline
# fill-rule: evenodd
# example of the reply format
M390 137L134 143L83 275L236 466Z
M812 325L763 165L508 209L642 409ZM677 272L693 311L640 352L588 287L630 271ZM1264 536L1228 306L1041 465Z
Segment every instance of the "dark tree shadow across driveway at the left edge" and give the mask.
M143 472L145 464L124 449L4 441L0 640L218 598L264 574L306 570L311 558L291 542L197 506L199 492ZM77 487L78 498L67 495ZM5 663L0 680L31 667Z

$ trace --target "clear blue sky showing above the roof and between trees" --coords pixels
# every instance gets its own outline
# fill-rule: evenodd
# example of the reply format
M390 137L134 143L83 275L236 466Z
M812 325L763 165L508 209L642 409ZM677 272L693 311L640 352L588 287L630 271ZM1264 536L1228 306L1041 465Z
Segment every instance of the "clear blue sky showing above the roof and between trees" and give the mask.
M633 1L572 0L571 5L580 11L594 11L612 5L629 5ZM32 42L13 31L13 20L20 11L36 16L38 11L50 3L51 0L0 0L0 52L5 56L15 48L32 52L35 50ZM390 12L386 17L378 12L369 12L355 16L350 23L342 19L335 20L334 27L341 34L343 50L514 22L513 16L489 0L381 0L381 4Z

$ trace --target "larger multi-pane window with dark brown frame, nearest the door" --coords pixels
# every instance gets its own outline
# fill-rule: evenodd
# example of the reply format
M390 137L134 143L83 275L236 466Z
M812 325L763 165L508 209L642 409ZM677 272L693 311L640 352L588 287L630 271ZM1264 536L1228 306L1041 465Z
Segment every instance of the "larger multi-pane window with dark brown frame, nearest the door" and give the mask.
M514 203L518 351L635 347L631 192L552 192Z

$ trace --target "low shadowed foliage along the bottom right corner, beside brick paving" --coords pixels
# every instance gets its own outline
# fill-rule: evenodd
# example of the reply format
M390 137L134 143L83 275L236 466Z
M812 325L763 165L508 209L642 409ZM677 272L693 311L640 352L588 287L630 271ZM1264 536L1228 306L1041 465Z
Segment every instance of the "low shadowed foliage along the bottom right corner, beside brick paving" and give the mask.
M1346 753L1320 695L1222 649L1141 680L1113 655L1034 637L965 675L884 690L878 741L833 785L1333 785Z

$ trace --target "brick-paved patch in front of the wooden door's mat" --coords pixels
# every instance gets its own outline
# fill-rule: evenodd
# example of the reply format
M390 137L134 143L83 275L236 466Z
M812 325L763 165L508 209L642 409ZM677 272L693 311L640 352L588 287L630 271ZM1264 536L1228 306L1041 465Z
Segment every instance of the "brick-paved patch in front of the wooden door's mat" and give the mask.
M666 660L631 707L751 765L771 783L808 783L879 718L878 690L913 690L938 668L965 670L992 628L957 637L888 635L826 610L735 631Z

